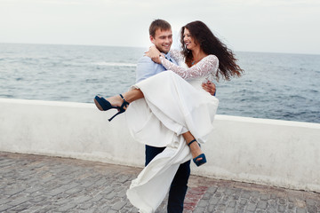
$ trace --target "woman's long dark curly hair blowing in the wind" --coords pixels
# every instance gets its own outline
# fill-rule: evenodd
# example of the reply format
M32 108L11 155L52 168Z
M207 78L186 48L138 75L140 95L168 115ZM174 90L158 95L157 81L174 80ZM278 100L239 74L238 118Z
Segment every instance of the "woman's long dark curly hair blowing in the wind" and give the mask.
M219 59L219 69L216 74L217 80L219 80L220 75L226 80L234 75L241 76L244 70L236 64L236 58L234 53L228 49L226 44L221 43L220 40L213 35L212 31L199 20L188 23L186 26L181 28L180 32L180 42L182 46L182 53L186 58L186 63L191 67L193 56L192 52L189 51L183 41L183 34L185 28L190 32L190 36L195 39L196 43L200 44L200 48L204 53L210 55L215 55Z

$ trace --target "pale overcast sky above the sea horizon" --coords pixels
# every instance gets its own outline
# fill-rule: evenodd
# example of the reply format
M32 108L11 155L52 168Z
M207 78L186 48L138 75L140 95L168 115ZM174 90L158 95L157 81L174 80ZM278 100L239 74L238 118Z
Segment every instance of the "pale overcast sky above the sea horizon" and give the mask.
M174 36L202 20L234 51L320 54L319 0L0 0L0 43L147 47L155 19Z

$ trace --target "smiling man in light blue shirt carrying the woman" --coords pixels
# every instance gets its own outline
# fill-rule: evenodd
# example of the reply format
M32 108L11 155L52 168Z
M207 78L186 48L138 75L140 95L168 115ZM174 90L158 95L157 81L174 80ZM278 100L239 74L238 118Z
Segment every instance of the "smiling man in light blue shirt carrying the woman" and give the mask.
M163 52L166 59L173 63L177 62L170 56L172 45L172 28L165 20L154 20L149 27L150 41L155 44L156 48ZM156 75L166 70L161 64L153 62L150 58L144 56L138 61L136 69L136 82L140 82L152 75ZM214 94L215 85L213 83L204 83L205 91ZM186 138L185 138L186 139ZM146 162L145 166L164 151L165 147L154 147L146 145ZM169 191L168 213L179 213L183 211L183 202L188 189L188 177L190 175L190 161L180 164L180 167L172 180Z

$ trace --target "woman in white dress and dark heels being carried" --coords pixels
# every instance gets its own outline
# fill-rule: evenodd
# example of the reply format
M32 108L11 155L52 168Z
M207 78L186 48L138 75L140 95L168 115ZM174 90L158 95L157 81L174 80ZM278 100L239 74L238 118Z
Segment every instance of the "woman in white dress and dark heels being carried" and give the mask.
M191 35L189 28L196 28L199 33ZM196 163L205 158L204 154L199 155L199 146L188 147L190 141L182 136L192 134L196 140L191 143L205 143L212 132L219 100L204 91L202 83L218 80L220 76L229 80L243 72L236 65L232 51L201 21L191 22L181 29L181 43L182 51L170 53L173 59L187 66L173 64L153 47L147 56L161 63L167 71L136 83L131 91L120 96L94 99L100 110L116 108L117 114L125 111L129 130L137 141L166 147L132 180L127 191L128 199L140 212L156 211L180 163L192 157Z

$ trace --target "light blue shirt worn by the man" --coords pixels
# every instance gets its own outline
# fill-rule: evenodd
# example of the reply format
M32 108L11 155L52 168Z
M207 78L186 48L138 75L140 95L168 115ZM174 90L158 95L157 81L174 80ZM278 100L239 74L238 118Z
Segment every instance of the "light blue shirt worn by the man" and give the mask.
M174 59L171 58L170 52L164 55L166 59L169 59L174 64L178 64ZM138 60L137 69L136 69L136 83L147 79L153 75L165 71L165 67L161 64L157 64L152 61L148 56L143 56Z

